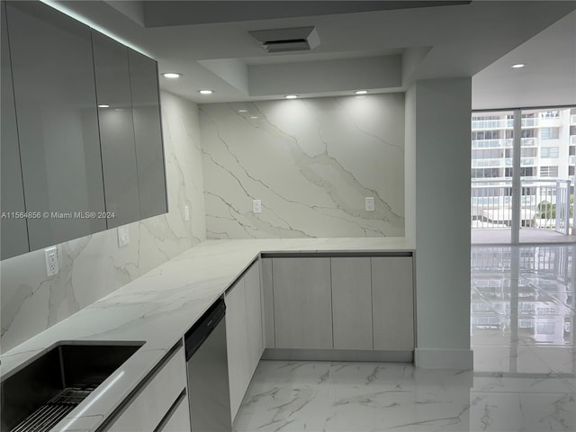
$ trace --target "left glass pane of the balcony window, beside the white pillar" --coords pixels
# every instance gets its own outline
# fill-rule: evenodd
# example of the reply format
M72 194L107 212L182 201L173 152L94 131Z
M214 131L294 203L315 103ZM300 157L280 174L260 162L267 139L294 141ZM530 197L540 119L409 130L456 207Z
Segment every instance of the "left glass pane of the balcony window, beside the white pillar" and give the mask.
M514 112L473 112L472 243L509 243Z

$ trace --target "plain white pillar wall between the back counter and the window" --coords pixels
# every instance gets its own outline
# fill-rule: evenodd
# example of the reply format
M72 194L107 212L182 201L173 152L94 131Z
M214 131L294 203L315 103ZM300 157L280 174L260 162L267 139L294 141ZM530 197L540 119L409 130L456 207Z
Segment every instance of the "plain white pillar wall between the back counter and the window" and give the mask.
M407 112L416 145L416 363L471 369L471 79L418 81L408 99L416 108Z

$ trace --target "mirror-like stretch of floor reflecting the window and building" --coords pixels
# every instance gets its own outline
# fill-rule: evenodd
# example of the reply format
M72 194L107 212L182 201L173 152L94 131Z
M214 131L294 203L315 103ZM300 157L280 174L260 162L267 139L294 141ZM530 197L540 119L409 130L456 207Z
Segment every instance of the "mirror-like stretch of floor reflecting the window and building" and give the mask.
M574 374L576 246L473 247L476 372Z

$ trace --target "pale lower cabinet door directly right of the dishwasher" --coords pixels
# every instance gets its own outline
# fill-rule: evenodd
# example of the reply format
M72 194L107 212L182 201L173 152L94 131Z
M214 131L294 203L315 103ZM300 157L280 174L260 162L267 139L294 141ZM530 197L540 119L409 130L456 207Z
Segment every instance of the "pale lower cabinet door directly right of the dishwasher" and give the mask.
M226 293L226 348L228 352L228 379L230 389L230 414L236 417L244 398L251 374L248 372L248 338L246 316L246 286L244 278Z

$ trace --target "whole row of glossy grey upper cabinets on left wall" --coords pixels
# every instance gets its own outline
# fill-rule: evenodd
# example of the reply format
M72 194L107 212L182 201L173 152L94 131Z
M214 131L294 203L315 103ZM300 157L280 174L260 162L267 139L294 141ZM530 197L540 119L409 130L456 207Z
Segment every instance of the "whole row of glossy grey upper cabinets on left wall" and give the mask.
M2 258L166 213L157 62L47 4L2 6Z

